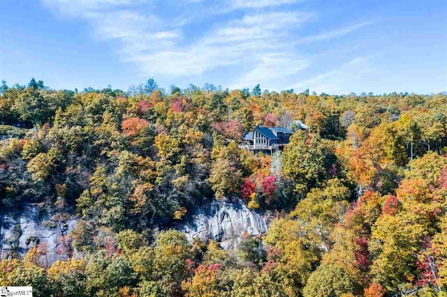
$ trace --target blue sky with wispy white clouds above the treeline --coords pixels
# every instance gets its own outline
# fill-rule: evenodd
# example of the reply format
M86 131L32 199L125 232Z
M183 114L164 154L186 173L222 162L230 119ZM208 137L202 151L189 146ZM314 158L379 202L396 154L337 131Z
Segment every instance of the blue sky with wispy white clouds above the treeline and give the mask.
M444 0L2 0L0 79L437 93L446 22Z

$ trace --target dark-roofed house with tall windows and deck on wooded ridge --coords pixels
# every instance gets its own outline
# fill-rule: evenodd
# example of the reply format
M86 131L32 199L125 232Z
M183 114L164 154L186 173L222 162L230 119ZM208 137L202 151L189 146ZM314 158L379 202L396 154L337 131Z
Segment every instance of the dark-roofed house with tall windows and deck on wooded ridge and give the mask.
M284 127L258 126L253 131L246 132L242 137L240 148L249 151L270 152L282 150L288 144L293 131Z

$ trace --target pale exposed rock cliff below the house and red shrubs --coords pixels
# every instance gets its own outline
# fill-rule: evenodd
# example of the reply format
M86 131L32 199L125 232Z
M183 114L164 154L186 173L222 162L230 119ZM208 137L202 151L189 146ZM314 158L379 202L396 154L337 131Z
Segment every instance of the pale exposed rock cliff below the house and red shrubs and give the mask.
M199 208L189 222L179 227L192 241L194 237L206 242L221 243L222 248L235 248L242 235L265 234L270 222L268 213L253 211L242 201L212 201Z

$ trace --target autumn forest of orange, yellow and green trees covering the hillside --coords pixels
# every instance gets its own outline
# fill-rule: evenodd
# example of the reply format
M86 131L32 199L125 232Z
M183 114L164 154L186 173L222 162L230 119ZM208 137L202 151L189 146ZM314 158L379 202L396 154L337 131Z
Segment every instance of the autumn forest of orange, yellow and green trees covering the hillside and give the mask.
M309 129L294 127L296 120ZM35 296L447 296L447 94L0 86L0 208L77 218L0 284ZM279 155L238 148L294 130ZM235 250L173 228L206 201L272 211ZM50 223L51 223L50 222ZM15 248L14 248L15 247Z

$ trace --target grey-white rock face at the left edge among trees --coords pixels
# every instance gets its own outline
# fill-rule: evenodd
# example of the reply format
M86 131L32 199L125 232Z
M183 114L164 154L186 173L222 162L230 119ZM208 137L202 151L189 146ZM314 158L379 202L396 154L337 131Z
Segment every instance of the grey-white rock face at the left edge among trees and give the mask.
M50 218L38 205L26 205L22 211L0 212L0 256L8 257L10 252L23 256L38 242L46 250L46 255L41 257L43 263L50 265L57 259L66 259L62 242L75 228L76 220L54 223Z

